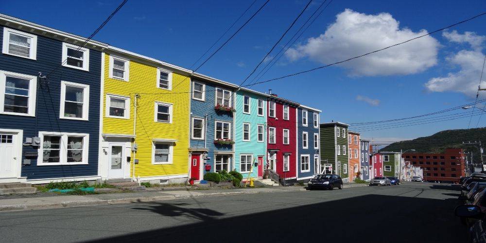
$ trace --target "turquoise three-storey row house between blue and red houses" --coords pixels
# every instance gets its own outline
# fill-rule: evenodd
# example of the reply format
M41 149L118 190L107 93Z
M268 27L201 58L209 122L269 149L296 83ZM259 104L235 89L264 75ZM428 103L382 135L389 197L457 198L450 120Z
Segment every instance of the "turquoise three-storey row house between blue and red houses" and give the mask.
M243 174L243 181L261 178L265 170L267 97L246 88L236 91L234 168Z

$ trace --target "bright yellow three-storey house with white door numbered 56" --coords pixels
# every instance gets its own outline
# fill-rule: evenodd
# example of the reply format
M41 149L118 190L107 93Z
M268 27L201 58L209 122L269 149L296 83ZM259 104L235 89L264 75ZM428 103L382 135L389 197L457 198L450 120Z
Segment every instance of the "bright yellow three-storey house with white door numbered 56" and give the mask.
M103 54L102 179L184 182L190 70L109 47Z

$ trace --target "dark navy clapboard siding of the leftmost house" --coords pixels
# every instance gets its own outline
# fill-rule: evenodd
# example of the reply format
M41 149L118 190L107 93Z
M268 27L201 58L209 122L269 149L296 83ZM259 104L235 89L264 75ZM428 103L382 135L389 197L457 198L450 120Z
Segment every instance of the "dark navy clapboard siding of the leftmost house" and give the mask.
M3 39L3 26L0 26ZM2 42L0 41L0 49ZM0 54L0 70L37 76L57 68L62 61L62 41L37 35L37 60ZM101 52L89 51L89 71L60 67L40 82L37 91L37 116L26 117L0 114L0 127L23 130L25 138L37 137L39 131L89 134L87 165L37 166L36 157L30 166L22 167L21 176L27 179L93 176L98 174L98 139L100 122ZM89 121L59 119L61 80L89 85ZM37 129L36 129L37 123ZM37 153L37 148L23 146L25 153ZM17 160L21 162L21 160Z

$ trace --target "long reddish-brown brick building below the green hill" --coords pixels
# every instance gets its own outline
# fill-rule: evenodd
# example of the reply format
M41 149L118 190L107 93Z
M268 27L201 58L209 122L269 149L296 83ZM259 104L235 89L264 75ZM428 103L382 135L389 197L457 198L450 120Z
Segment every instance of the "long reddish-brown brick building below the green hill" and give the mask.
M465 175L466 160L462 149L446 149L443 154L407 153L405 161L424 170L425 181L458 182Z

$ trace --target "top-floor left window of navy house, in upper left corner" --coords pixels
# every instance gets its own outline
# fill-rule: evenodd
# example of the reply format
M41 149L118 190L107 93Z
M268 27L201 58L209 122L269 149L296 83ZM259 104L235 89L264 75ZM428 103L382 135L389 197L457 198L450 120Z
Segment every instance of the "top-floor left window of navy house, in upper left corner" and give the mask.
M37 35L4 27L2 53L36 60Z

